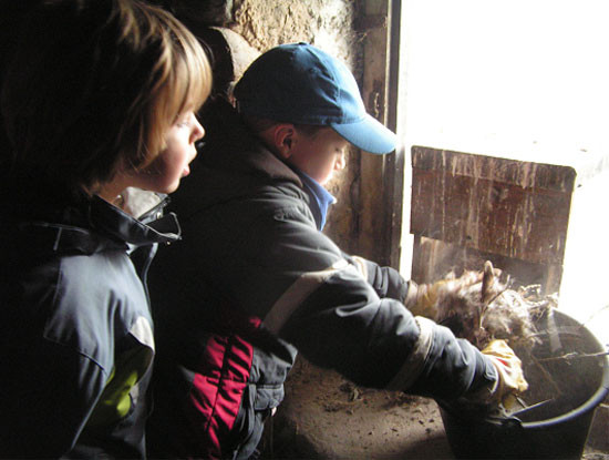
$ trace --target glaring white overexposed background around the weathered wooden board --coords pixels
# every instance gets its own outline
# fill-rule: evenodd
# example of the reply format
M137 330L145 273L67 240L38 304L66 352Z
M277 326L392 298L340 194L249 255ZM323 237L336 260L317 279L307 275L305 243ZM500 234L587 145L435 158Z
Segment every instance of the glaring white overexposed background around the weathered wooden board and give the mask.
M409 157L420 144L607 168L608 13L606 0L404 0L399 134ZM577 304L581 320L600 311L589 325L609 343L609 173L578 183L561 307Z

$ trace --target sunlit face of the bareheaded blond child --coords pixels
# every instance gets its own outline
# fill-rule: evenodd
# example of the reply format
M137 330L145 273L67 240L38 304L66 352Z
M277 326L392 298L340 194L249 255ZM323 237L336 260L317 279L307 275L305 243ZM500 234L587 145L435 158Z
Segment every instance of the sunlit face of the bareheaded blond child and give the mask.
M190 173L188 164L195 159L195 142L205 135L195 114L189 111L169 127L165 136L165 149L144 170L133 174L133 186L159 193L172 193L179 186L182 177Z

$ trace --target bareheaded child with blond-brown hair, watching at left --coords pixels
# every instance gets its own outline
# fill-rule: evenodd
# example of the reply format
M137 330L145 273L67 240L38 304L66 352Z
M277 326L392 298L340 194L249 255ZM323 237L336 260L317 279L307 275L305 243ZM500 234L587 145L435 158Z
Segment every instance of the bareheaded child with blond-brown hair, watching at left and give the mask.
M179 238L164 194L204 135L211 71L147 3L35 3L2 72L0 457L143 459L146 272Z

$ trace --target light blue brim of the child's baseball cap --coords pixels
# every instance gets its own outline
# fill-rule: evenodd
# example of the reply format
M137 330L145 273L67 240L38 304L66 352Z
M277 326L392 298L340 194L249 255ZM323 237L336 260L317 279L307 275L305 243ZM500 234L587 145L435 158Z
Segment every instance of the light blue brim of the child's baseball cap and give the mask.
M369 114L355 123L331 123L330 126L364 152L383 155L398 145L398 136Z

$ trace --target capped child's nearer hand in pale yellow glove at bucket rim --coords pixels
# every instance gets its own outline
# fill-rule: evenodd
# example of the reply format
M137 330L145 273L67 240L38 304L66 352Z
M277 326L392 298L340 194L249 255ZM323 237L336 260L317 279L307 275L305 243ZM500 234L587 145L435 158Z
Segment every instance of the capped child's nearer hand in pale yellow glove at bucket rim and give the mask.
M523 364L505 340L491 340L482 354L491 359L498 376L487 402L497 402L509 409L516 402L516 396L528 389Z

